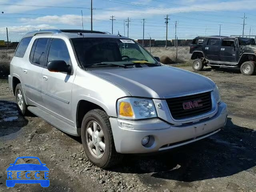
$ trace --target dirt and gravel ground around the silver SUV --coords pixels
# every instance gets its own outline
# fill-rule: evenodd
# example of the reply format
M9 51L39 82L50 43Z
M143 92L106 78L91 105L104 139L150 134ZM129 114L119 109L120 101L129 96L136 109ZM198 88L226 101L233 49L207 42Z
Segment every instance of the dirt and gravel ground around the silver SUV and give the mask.
M218 85L228 104L226 127L210 138L163 154L127 155L111 170L88 162L80 138L36 116L19 116L8 81L0 79L0 191L255 192L256 76L211 68L198 74ZM48 188L40 184L6 187L6 168L19 156L37 156L46 164Z

